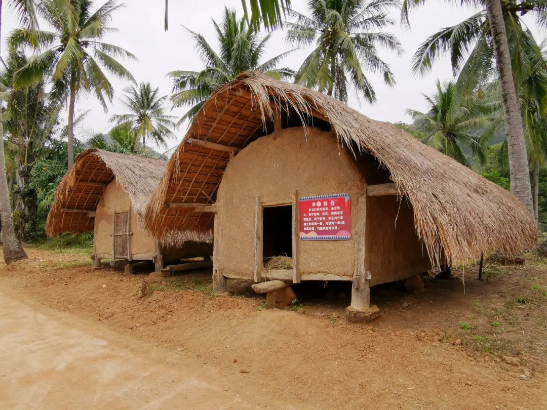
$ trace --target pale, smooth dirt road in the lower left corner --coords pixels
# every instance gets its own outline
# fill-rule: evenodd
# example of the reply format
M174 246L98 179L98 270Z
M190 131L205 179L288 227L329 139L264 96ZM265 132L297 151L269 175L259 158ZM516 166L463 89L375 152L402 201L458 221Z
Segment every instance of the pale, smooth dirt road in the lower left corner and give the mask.
M207 366L20 298L0 291L1 409L263 407Z

